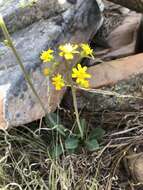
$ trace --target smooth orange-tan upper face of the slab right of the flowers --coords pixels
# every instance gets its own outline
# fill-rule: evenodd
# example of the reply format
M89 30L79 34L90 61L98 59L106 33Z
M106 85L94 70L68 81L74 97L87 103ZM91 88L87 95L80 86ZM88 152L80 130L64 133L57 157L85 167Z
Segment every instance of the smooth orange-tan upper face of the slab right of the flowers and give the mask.
M89 67L88 72L92 75L90 86L93 89L103 86L113 86L122 80L143 73L143 54L136 54L114 61L104 62Z

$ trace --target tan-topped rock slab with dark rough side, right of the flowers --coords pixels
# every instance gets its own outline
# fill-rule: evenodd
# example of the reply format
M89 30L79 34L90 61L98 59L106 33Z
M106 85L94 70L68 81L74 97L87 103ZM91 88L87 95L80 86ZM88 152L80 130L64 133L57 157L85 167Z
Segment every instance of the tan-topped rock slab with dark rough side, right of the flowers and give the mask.
M77 90L78 108L94 121L105 112L102 123L118 124L128 113L143 110L143 54L91 66L91 90ZM123 97L122 97L123 96ZM71 108L70 95L64 97L64 105ZM67 100L67 101L66 101ZM106 116L107 113L107 116ZM100 115L100 116L99 116ZM97 120L97 121L98 121Z

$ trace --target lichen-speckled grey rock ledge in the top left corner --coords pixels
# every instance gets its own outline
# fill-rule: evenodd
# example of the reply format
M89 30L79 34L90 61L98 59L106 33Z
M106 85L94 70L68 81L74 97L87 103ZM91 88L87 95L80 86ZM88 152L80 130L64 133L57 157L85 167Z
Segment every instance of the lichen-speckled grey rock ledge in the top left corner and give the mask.
M9 32L25 28L41 19L50 18L61 14L70 6L67 1L60 3L60 0L1 0L0 13L4 17Z

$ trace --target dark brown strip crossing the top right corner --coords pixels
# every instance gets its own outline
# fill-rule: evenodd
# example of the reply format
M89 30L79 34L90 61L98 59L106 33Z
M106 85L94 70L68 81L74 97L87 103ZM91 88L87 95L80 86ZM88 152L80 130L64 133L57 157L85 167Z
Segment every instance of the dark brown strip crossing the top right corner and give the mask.
M108 0L129 9L143 13L143 0Z

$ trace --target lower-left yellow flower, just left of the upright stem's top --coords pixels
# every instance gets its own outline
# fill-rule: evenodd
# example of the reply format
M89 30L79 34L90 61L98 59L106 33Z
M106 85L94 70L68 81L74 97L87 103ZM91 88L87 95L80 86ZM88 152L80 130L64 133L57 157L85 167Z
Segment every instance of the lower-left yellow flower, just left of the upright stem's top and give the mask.
M52 78L52 84L55 86L56 90L61 90L62 87L65 86L64 79L62 75L57 74L55 77Z

